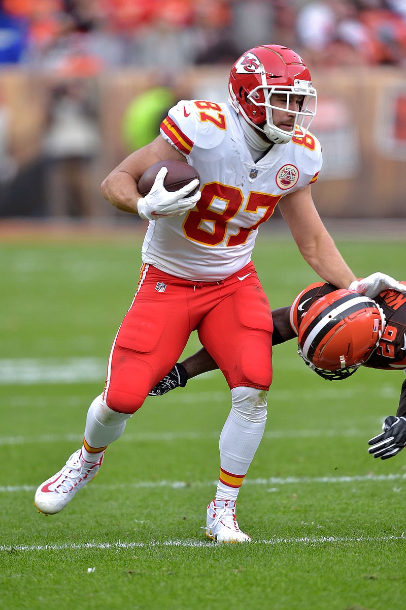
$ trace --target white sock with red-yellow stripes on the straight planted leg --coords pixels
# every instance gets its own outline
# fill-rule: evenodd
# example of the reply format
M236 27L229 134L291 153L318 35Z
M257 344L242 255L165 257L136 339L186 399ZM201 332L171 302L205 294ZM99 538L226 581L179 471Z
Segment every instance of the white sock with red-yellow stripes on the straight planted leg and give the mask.
M250 387L231 390L233 406L220 434L220 479L216 500L237 500L267 420L267 392Z

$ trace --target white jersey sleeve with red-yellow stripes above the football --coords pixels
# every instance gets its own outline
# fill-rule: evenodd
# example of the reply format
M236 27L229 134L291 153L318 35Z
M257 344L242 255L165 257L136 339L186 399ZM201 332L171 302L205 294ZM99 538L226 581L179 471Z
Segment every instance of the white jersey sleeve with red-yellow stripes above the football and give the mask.
M194 147L214 148L225 136L226 118L222 111L222 105L214 102L181 100L161 123L161 135L185 157L192 154Z

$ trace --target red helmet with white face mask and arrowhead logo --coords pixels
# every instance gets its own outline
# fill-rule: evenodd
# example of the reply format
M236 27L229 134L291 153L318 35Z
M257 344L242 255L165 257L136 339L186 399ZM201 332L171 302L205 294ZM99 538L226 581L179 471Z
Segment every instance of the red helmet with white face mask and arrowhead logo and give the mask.
M310 72L303 59L285 46L263 45L245 52L231 68L228 89L234 110L274 144L290 142L296 126L284 131L273 124L272 109L281 110L271 104L273 93L286 95L286 110L290 95L303 96L300 110L295 111L303 135L316 113L317 93Z

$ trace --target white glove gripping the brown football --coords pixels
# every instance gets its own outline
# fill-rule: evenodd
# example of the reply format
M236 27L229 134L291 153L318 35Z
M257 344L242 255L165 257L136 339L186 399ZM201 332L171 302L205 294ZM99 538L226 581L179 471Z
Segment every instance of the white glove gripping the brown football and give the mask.
M137 209L138 215L145 220L157 220L166 216L180 216L191 210L200 199L201 192L197 191L194 195L187 197L194 188L197 187L199 181L192 180L186 186L177 191L170 193L164 187L164 178L168 170L166 167L161 167L156 174L155 182L152 185L150 192L138 199Z

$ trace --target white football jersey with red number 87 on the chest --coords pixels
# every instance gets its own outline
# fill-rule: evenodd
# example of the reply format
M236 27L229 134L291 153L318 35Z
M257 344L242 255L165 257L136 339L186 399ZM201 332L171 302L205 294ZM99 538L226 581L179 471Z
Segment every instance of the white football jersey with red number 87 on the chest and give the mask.
M254 162L229 104L180 101L161 135L197 169L201 198L182 216L150 221L142 260L185 279L217 281L247 265L259 225L321 168L320 143L299 129Z

